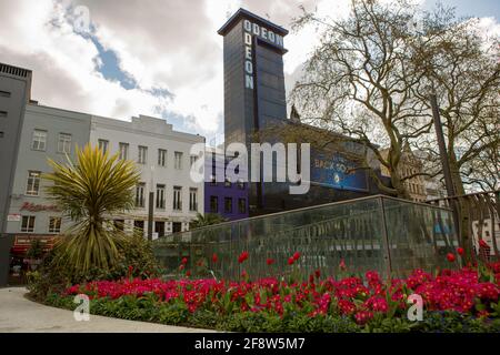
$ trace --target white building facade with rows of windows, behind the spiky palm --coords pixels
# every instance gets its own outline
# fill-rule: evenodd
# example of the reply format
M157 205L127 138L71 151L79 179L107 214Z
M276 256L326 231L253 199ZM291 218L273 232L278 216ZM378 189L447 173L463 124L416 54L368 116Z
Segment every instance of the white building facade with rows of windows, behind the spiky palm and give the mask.
M92 116L90 143L136 162L141 181L136 187L136 209L111 219L124 231L142 230L148 235L148 206L153 192L153 239L188 231L189 223L203 214L203 182L193 182L191 146L204 138L173 131L166 120L140 115L131 121Z

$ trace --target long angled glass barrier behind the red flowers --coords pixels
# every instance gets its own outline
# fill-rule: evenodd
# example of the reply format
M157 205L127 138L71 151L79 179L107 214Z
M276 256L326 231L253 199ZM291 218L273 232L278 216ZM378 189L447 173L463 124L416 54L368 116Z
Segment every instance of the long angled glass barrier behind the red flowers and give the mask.
M167 235L153 242L166 277L238 280L294 273L308 277L361 274L404 276L444 266L457 246L450 210L370 196L287 211ZM249 257L238 262L242 252ZM289 265L289 258L300 257ZM216 257L214 257L216 255ZM179 270L182 258L188 263ZM450 266L450 265L448 265Z

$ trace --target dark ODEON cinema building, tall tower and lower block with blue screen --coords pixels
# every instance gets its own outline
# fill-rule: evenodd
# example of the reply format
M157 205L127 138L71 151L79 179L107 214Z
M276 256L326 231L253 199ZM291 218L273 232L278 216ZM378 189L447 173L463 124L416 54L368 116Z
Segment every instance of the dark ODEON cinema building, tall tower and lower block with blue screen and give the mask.
M288 31L284 28L239 9L218 33L223 37L226 148L239 142L250 152L251 143L282 142L280 132L283 131L307 132L299 135L334 141L332 133L301 123L296 112L287 115L283 39ZM341 136L339 141L342 141ZM361 146L352 143L339 143L336 148L311 146L309 191L290 194L288 180L250 182L250 216L380 193L367 171L357 169ZM276 175L276 154L273 156ZM251 166L249 162L249 170ZM376 172L380 171L376 160L371 166Z

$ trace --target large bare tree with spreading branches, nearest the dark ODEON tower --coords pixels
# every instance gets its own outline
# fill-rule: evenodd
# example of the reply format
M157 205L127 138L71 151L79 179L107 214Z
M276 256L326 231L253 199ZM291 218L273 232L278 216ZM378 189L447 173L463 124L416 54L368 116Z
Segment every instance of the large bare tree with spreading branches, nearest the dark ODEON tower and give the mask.
M321 39L291 99L309 118L304 123L361 144L366 154L359 169L371 171L374 156L391 176L392 186L386 186L371 171L379 186L407 197L403 180L412 176L398 169L403 146L431 129L430 112L416 95L426 73L409 26L418 9L404 0L353 0L351 12L331 20L304 11L296 21L299 29L316 24Z

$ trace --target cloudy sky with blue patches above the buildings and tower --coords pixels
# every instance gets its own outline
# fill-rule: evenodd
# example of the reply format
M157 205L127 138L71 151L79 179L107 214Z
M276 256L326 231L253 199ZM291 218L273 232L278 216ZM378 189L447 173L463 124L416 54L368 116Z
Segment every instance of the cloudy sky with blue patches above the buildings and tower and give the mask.
M414 0L431 9L436 0ZM33 70L40 104L128 120L161 116L207 141L223 132L222 38L238 8L290 27L299 6L344 16L349 0L0 0L0 62ZM443 0L499 28L498 0ZM286 39L287 89L314 45Z

